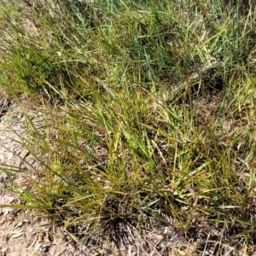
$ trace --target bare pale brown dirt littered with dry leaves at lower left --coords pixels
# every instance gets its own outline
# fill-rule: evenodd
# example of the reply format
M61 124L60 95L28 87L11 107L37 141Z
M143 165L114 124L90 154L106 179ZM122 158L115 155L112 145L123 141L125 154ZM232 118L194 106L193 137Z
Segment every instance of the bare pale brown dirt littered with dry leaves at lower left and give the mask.
M25 136L25 117L22 114L26 106L2 98L0 104L0 205L7 206L22 203L11 191L9 183L15 180L26 189L23 177L29 175L29 169L38 168L36 161L26 148L19 143L19 136ZM36 111L28 111L36 119ZM11 167L12 166L12 167ZM16 171L15 176L9 170ZM21 172L26 170L26 172ZM0 255L83 255L70 241L60 227L50 223L47 216L32 215L31 212L0 208Z

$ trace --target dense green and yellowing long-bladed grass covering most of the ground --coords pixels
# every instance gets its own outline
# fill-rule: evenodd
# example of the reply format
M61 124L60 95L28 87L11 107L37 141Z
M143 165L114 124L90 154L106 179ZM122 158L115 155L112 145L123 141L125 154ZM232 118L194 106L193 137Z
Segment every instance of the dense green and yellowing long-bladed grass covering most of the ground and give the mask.
M245 2L2 3L1 87L44 102L20 137L40 168L30 189L14 184L15 207L47 212L75 240L139 241L142 255L246 255L256 17Z

